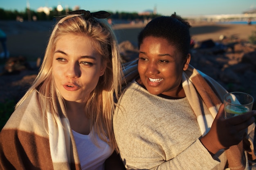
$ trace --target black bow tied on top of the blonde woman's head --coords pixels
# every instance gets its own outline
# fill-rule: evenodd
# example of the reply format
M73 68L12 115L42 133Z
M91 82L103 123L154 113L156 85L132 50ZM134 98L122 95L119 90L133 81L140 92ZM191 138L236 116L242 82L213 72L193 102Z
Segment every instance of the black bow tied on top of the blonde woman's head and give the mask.
M83 15L83 17L85 19L90 19L92 17L95 17L95 18L107 18L109 17L111 14L106 12L106 11L98 11L98 12L90 12L90 11L85 11L83 9L80 9L80 10L76 10L76 11L71 11L71 12L68 12L69 14L79 14L79 15Z

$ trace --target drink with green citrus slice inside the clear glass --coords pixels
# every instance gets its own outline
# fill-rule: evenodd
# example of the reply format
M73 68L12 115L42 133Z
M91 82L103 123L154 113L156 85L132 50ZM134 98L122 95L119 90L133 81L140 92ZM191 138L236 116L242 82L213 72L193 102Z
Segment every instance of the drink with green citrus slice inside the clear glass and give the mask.
M243 113L247 113L248 111L250 111L250 109L245 106L227 105L225 107L225 118L229 119L234 116L241 115Z

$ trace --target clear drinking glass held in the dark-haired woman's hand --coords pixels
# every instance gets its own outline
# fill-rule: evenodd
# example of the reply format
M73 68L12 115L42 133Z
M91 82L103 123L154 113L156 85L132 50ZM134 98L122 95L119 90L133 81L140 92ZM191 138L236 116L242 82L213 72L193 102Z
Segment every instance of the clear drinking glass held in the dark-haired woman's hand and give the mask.
M229 119L252 110L254 98L243 92L230 92L224 95L225 118Z

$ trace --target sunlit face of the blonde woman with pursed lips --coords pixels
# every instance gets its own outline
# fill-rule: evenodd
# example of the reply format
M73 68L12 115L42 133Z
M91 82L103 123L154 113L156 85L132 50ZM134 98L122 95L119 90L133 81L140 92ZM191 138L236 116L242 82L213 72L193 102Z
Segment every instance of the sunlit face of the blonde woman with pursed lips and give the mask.
M56 42L52 71L56 87L65 100L86 102L105 69L90 38L66 34Z

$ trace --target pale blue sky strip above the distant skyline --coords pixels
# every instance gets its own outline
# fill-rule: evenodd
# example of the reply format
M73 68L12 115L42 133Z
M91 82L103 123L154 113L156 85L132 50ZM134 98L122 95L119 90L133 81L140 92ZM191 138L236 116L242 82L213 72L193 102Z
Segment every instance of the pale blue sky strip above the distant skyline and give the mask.
M142 12L157 9L161 15L214 15L240 14L256 8L256 0L0 0L0 8L6 10L25 11L29 2L30 9L36 11L39 7L68 6L73 9L111 12Z

